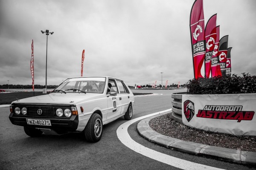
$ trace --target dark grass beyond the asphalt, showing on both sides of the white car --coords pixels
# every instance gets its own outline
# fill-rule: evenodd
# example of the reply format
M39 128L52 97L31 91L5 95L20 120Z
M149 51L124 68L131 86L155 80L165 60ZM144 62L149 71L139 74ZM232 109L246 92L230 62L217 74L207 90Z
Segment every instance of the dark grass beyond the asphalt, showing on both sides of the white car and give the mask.
M144 95L152 93L134 93L134 95ZM35 96L45 95L43 92L35 92ZM0 105L9 105L13 101L18 99L24 99L27 97L33 97L33 92L12 92L12 93L0 93Z

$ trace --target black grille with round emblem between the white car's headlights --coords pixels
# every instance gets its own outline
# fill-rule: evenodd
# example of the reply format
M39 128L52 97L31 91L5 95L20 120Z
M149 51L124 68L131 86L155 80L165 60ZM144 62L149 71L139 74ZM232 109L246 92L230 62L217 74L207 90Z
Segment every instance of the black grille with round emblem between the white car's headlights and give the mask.
M42 114L38 114L38 110L42 110ZM54 117L54 107L44 107L44 106L28 106L27 107L28 116L51 116Z

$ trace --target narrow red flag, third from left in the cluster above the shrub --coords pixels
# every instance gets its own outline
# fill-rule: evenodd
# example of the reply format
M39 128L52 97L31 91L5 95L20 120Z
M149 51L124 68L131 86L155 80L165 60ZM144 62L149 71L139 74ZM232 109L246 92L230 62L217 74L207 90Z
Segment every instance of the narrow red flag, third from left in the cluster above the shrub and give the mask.
M216 27L216 40L215 40L215 46L212 51L212 65L211 65L211 73L212 77L215 76L222 76L221 74L221 67L220 67L220 62L218 59L218 45L219 45L219 40L220 40L220 26Z

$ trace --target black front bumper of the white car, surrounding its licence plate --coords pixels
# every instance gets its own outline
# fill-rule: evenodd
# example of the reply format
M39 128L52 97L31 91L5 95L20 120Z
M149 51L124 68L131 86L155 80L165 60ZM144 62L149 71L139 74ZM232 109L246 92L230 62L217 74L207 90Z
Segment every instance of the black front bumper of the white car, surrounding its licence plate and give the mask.
M73 132L76 131L79 123L78 115L72 115L70 119L60 119L60 118L40 118L46 119L51 121L51 126L43 126L43 125L28 125L26 119L38 119L38 117L32 116L14 116L14 113L11 112L9 115L9 119L14 125L18 126L25 126L25 127L34 127L34 128L41 128L41 129L52 129L55 131L61 132Z

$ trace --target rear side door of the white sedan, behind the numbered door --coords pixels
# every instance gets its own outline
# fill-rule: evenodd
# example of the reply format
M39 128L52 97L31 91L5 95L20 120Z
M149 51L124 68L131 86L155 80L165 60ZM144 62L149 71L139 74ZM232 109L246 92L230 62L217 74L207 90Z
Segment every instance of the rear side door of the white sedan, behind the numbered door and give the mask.
M127 89L125 88L124 83L121 80L116 80L116 85L119 90L119 94L117 95L119 97L120 103L122 105L122 110L120 114L123 114L127 111L129 101L130 101L130 96L128 94Z

